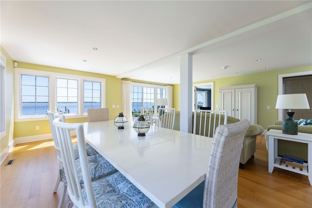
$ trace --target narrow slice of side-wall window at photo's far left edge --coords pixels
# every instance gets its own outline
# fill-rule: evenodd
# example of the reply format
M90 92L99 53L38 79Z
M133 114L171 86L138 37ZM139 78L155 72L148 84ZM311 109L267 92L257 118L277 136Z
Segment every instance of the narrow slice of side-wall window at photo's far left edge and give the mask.
M5 126L5 67L6 59L1 53L0 56L0 138L6 135Z

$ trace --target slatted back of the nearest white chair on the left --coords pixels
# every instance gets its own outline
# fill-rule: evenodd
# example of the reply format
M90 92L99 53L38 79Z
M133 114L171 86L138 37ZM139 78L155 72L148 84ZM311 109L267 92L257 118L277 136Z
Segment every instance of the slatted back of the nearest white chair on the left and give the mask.
M56 139L59 144L61 161L64 167L64 172L67 180L67 191L71 201L75 207L96 208L96 201L91 185L91 178L88 168L86 146L84 141L83 126L81 124L70 124L62 122L62 118L56 118L53 121L56 130ZM78 152L80 158L80 166L83 177L84 188L88 198L88 205L84 203L81 185L79 182L78 167L75 162L74 149L72 145L70 130L76 130Z

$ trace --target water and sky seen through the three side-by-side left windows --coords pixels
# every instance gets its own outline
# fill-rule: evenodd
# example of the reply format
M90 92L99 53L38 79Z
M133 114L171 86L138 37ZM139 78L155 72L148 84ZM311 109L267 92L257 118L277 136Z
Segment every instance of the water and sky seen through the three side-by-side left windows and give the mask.
M84 81L83 112L101 107L101 83ZM49 106L49 77L21 75L21 115L46 115ZM57 79L58 112L78 113L78 80Z

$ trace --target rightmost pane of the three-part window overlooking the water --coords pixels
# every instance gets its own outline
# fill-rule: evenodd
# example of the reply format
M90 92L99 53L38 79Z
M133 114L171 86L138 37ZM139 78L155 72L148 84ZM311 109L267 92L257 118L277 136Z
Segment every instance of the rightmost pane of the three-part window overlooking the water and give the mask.
M88 108L101 107L101 83L84 81L83 83L83 112L87 113Z

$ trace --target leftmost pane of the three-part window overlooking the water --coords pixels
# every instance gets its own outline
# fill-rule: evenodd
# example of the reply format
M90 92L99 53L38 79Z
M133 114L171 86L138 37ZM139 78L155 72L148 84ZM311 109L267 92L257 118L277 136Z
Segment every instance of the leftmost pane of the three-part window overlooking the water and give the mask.
M49 109L49 78L21 75L21 115L45 115Z

